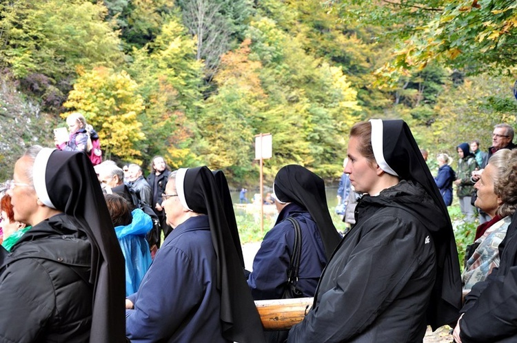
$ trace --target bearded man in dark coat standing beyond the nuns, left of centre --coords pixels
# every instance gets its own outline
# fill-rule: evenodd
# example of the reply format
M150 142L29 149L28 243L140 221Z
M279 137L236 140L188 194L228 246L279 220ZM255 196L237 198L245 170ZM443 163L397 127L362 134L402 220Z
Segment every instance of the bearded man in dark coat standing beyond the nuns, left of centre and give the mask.
M161 195L165 193L165 186L167 185L169 174L169 168L163 157L154 156L152 158L151 173L147 178L152 194L152 202L149 205L151 205L158 218L160 218L161 229L165 238L167 238L170 231L172 231L172 227L167 224L167 218L165 218L165 214L163 213ZM158 246L160 246L160 242L158 242Z

